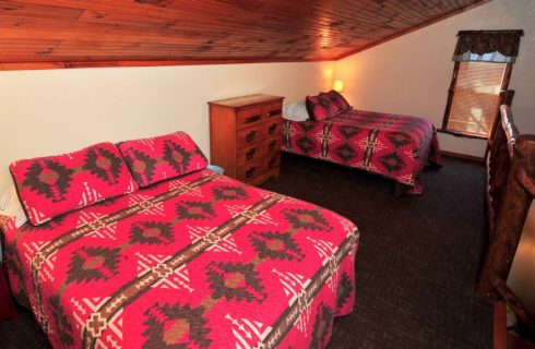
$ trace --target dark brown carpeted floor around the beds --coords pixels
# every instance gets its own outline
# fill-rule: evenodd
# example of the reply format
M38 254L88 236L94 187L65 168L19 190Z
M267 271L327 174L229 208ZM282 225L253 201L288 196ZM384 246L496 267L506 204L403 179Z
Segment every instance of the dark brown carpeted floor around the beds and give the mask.
M474 294L484 240L484 166L444 158L424 194L394 198L379 176L294 155L262 186L350 218L360 230L355 311L329 348L490 348L491 305ZM21 310L0 324L2 348L48 348Z

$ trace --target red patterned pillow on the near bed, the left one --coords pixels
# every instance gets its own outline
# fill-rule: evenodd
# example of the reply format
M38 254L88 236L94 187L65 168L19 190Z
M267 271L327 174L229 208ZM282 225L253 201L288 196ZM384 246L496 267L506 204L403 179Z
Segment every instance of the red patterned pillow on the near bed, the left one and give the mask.
M111 143L14 161L10 170L26 216L35 226L138 190L119 149Z

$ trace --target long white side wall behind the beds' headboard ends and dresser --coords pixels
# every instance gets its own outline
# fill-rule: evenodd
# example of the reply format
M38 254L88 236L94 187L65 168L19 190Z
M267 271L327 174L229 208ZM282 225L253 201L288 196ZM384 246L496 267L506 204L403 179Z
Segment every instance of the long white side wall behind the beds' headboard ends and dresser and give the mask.
M332 62L0 72L0 191L11 161L100 141L183 130L209 156L206 101L257 93L295 101L328 89L332 73Z

